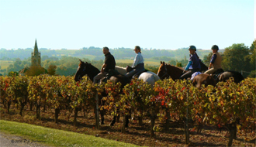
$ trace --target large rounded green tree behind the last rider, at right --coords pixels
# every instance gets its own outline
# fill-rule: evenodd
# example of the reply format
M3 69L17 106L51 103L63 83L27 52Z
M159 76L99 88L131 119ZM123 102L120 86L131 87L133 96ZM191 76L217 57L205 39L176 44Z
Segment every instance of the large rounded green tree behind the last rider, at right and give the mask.
M250 71L249 48L244 43L233 44L223 53L223 70Z

